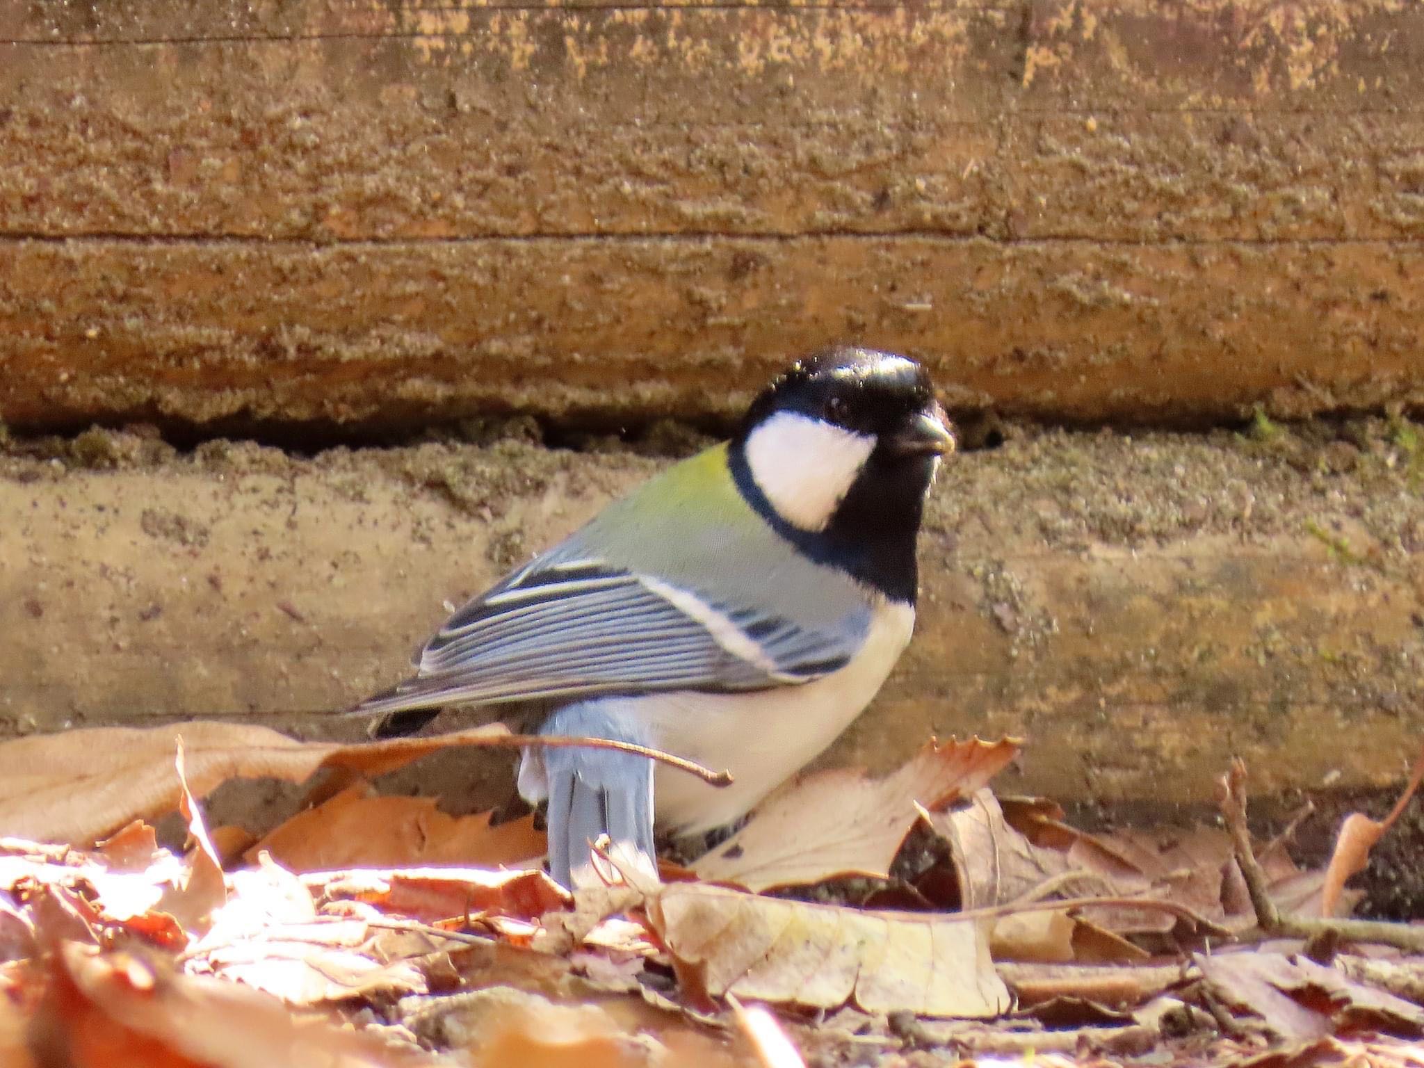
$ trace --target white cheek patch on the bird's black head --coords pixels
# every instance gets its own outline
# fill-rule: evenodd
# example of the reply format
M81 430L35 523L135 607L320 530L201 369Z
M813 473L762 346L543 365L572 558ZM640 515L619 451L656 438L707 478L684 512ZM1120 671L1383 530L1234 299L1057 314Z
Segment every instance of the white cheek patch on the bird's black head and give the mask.
M746 439L746 464L776 513L795 527L824 530L850 491L876 439L779 412Z

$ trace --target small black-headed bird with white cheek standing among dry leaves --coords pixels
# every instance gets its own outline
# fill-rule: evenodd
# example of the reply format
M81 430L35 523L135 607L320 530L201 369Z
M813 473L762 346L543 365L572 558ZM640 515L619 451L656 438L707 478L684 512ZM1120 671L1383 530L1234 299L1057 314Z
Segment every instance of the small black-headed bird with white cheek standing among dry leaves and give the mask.
M763 389L729 441L608 504L459 608L416 674L353 709L410 733L493 708L521 732L649 746L521 750L550 874L601 877L591 843L656 871L655 833L735 823L870 703L910 642L924 503L956 439L926 369L837 346ZM605 877L605 876L602 876Z

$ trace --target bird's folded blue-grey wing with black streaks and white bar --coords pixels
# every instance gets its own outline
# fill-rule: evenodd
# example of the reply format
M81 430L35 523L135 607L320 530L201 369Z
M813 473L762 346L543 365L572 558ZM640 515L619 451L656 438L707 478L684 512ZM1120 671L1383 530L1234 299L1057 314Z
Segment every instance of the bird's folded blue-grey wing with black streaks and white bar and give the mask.
M471 601L419 674L357 712L669 689L795 685L856 654L869 608L807 629L592 557L541 557Z

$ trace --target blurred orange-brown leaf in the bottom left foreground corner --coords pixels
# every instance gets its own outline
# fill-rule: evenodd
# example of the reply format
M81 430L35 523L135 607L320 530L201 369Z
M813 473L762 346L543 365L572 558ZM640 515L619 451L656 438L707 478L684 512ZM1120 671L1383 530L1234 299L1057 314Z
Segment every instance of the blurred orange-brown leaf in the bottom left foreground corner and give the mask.
M50 991L30 1027L40 1064L70 1068L403 1068L431 1058L296 1020L265 994L174 975L147 960L73 943L53 954Z

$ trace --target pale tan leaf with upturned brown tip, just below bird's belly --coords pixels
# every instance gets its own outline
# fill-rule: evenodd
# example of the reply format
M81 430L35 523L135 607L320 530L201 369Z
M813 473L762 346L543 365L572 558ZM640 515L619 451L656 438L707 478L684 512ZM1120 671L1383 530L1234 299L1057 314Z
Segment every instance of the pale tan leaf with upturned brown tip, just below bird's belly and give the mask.
M943 809L978 790L1018 753L1018 742L930 742L897 772L871 779L834 769L793 780L693 871L748 890L820 883L837 876L884 879L918 807Z

